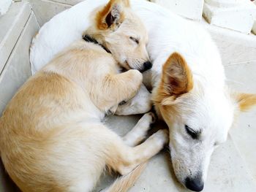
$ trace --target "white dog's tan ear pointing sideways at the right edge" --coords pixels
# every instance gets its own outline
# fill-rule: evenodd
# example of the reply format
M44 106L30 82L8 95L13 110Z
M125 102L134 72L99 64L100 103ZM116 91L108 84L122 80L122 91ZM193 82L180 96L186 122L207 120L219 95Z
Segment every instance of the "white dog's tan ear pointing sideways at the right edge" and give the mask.
M233 93L233 98L238 104L239 110L242 112L249 110L251 107L256 105L256 95L249 93Z

